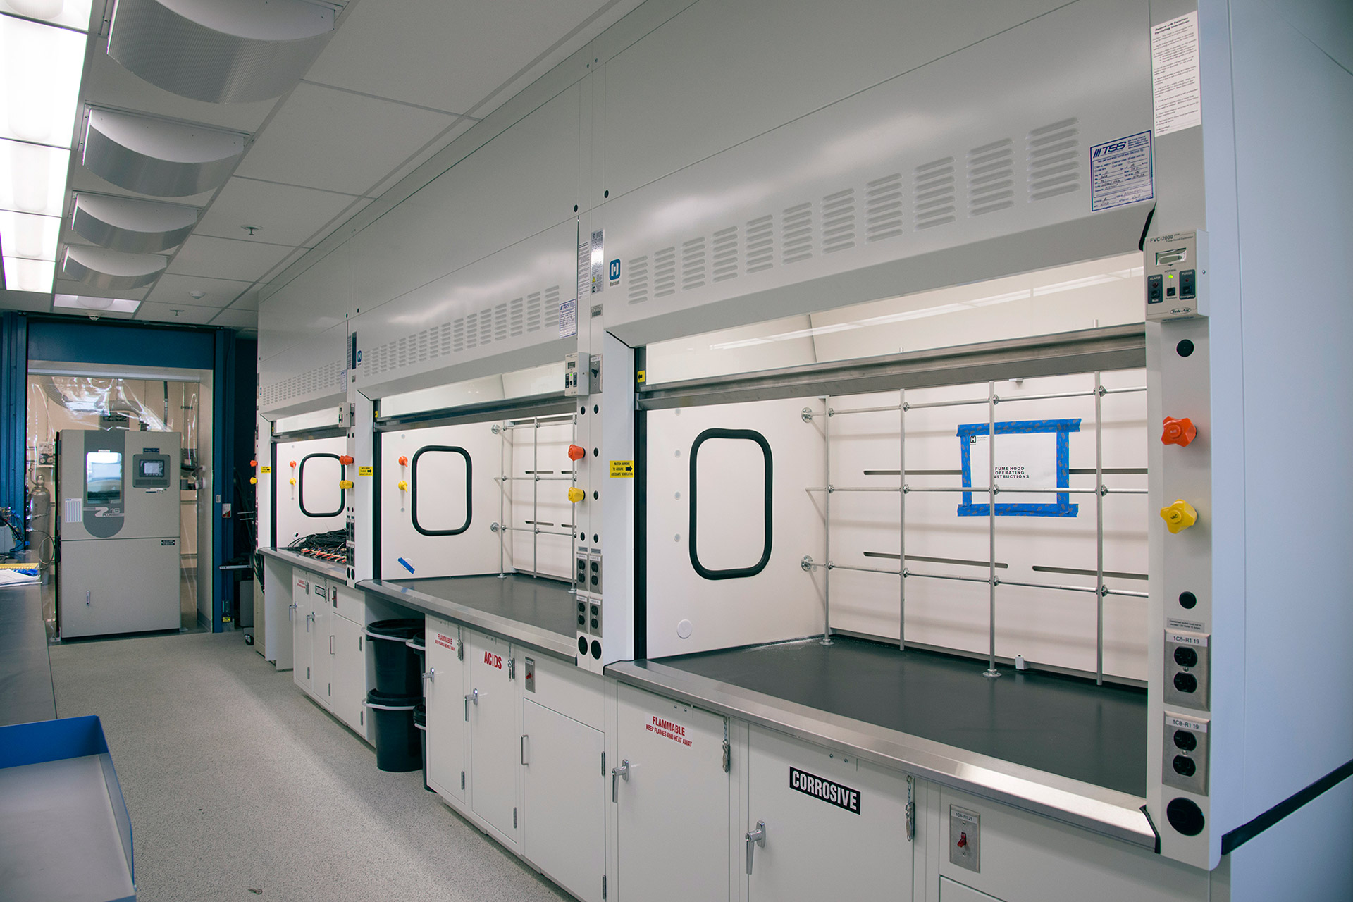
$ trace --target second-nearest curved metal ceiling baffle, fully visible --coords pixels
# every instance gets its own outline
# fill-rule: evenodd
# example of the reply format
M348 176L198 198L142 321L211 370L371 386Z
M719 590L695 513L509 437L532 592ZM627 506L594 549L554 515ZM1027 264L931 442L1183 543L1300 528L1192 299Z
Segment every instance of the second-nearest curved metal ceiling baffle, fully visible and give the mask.
M85 169L153 197L188 197L225 184L245 153L245 137L111 110L89 110Z

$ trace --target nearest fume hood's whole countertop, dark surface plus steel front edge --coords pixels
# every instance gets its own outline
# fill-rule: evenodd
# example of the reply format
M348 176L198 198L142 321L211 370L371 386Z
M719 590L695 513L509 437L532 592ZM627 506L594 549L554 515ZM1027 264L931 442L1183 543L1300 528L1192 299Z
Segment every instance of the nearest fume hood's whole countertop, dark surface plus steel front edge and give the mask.
M621 683L1154 848L1146 692L833 636L612 664Z

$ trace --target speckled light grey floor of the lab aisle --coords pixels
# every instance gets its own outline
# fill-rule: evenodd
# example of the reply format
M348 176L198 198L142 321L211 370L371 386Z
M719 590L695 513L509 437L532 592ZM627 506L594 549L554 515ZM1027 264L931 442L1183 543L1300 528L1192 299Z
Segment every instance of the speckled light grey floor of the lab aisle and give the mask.
M138 902L571 898L375 752L241 633L54 645L58 717L97 714Z

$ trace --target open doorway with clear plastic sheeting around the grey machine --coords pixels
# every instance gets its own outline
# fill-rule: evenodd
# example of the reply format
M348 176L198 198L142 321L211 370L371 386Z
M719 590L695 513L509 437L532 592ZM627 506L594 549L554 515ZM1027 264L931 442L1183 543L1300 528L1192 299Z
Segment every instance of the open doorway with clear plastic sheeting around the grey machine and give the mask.
M43 619L49 638L60 637L53 591L60 531L53 504L55 440L62 430L81 429L169 431L181 437L180 460L169 473L180 508L180 629L210 629L212 563L207 517L211 506L202 504L200 495L211 467L211 376L195 369L134 372L137 369L110 368L104 373L89 365L46 361L31 361L28 366L24 479L30 499L30 548L37 552L46 584Z

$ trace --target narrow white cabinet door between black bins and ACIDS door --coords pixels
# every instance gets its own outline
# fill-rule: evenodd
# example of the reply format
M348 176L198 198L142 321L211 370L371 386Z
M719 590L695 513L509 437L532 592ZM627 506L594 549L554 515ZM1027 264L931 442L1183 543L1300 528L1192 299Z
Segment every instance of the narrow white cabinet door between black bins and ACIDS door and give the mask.
M460 661L460 627L429 617L428 680L428 786L448 799L465 801L465 703L464 667Z

